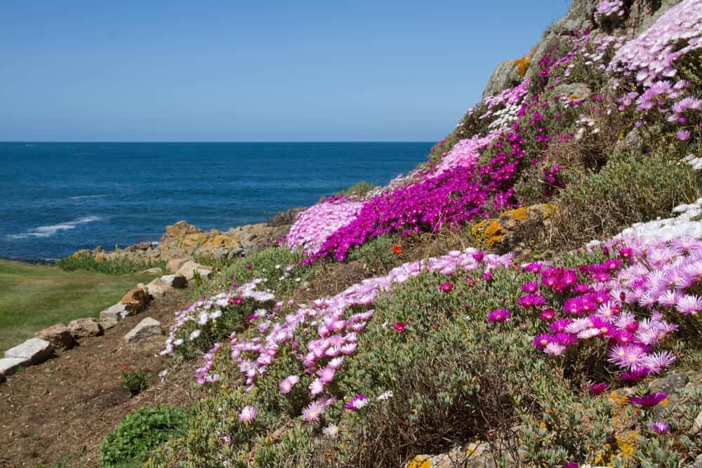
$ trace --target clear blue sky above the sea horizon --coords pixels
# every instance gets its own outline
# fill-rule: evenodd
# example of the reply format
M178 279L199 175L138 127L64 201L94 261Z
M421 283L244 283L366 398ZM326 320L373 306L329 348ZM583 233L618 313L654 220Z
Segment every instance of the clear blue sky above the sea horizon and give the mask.
M551 1L0 4L0 140L435 141Z

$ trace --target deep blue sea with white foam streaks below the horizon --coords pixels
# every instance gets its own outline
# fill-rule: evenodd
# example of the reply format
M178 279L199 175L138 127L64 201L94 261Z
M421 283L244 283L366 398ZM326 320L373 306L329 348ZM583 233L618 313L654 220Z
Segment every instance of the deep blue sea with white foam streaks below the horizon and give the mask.
M263 222L359 180L385 184L432 143L0 142L0 257L60 258Z

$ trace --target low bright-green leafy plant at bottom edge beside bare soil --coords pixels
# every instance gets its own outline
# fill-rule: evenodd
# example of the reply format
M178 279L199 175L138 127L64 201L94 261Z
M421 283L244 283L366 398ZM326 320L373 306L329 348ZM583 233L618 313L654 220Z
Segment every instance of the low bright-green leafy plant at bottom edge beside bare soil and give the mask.
M150 451L176 434L184 421L185 412L171 406L129 413L100 443L100 465L138 466Z

